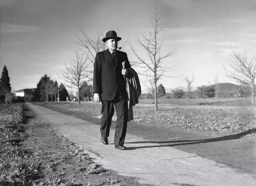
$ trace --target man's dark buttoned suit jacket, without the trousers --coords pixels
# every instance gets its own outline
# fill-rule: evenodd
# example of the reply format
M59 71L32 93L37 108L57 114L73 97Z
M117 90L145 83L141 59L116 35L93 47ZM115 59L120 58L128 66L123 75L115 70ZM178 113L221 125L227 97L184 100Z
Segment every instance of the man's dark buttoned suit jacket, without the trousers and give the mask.
M126 84L122 75L122 62L125 68L131 67L127 54L116 50L115 62L112 60L109 49L98 52L94 61L93 92L99 93L101 100L111 101L117 90L124 100L127 100Z

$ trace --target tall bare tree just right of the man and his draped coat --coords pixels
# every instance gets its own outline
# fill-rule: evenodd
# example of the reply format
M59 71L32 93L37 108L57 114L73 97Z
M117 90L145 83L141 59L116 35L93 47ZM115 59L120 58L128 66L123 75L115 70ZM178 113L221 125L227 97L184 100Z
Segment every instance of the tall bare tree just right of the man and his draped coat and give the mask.
M138 53L135 51L135 49L131 46L132 52L137 57L138 61L134 62L134 64L142 69L145 69L143 73L140 73L142 75L149 75L149 73L153 75L151 76L151 79L154 82L154 88L155 88L155 110L158 110L157 105L157 82L162 77L173 77L173 76L165 76L164 73L168 70L170 70L172 67L166 67L163 65L163 60L177 51L176 49L173 49L169 51L167 54L161 56L161 46L163 42L159 42L159 33L163 31L163 29L158 28L158 22L161 16L159 16L156 12L154 16L150 16L151 23L152 23L152 31L149 31L149 36L146 37L144 34L141 33L143 39L145 40L145 44L138 38L138 44L144 49L147 53L147 56L149 57L149 61L144 60L143 58L138 56Z

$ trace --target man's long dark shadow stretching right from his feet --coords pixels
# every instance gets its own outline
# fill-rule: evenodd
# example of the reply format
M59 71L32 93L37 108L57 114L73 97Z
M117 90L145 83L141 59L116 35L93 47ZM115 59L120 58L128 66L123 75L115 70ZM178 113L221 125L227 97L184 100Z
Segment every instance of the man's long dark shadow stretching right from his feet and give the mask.
M153 145L153 146L139 146L139 147L127 147L127 150L135 150L135 149L144 149L144 148L152 148L152 147L172 147L178 145L191 145L197 143L209 143L209 142L216 142L216 141L224 141L224 140L235 140L239 139L247 134L256 133L256 128L249 129L245 132L241 132L239 134L234 135L226 135L222 137L215 137L209 139L201 139L201 140L175 140L175 141L135 141L135 142L127 142L130 144L137 144L137 143L176 143L170 145ZM188 143L184 143L188 142Z

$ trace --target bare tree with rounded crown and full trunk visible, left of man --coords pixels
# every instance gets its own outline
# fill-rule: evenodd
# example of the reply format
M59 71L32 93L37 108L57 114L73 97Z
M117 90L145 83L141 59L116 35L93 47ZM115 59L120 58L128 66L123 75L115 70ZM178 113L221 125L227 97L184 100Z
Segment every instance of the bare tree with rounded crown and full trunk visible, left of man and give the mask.
M78 51L75 53L75 58L71 61L70 65L65 65L65 70L61 73L62 78L67 82L68 87L75 86L78 95L78 104L80 104L80 88L84 81L90 79L88 76L91 73L90 69L87 69L90 61L87 60L85 53L79 54Z

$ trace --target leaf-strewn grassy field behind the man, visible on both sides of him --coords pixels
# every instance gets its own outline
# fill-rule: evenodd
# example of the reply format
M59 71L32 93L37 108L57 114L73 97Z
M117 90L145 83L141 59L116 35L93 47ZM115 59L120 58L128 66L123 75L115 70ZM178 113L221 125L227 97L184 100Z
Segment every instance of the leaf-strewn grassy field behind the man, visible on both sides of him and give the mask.
M196 130L207 130L207 131L218 131L229 134L246 132L254 133L256 128L256 118L254 109L249 106L246 107L250 102L248 99L229 99L225 100L207 100L207 103L223 103L223 107L227 104L232 104L233 106L243 105L241 108L237 109L225 109L225 108L200 108L200 101L193 100L196 108L182 108L182 107L172 107L165 108L159 107L159 110L154 110L154 105L152 107L142 107L140 104L146 104L140 100L138 106L133 107L134 120L131 122L139 122L140 124L152 125L161 128L171 128L171 127L182 127L185 129L196 129ZM163 101L163 102L161 102ZM176 102L175 102L176 101ZM183 102L182 102L183 101ZM187 101L187 100L186 100ZM247 102L246 102L247 101ZM142 102L142 103L141 103ZM176 104L182 105L185 100L160 100L160 104ZM45 105L46 103L38 103ZM226 105L225 105L226 104ZM221 104L220 104L221 105ZM92 117L100 118L101 114L101 104L95 104L92 102L82 102L81 105L77 105L77 102L62 102L62 103L48 103L48 107L59 107L64 110L70 110L81 113L88 113ZM190 105L191 106L191 105ZM203 105L205 106L205 105ZM246 108L244 108L246 107ZM116 119L114 114L113 120Z

